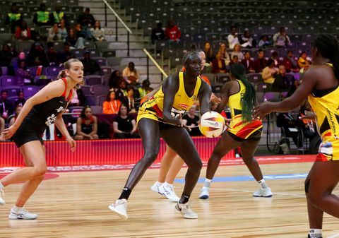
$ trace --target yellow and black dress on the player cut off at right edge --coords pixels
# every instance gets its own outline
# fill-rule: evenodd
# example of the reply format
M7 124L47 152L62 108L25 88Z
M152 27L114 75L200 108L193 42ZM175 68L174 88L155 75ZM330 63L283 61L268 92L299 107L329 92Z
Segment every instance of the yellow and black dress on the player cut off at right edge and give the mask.
M314 89L308 97L309 105L316 114L316 128L321 136L316 161L339 160L338 98L339 85L326 90Z

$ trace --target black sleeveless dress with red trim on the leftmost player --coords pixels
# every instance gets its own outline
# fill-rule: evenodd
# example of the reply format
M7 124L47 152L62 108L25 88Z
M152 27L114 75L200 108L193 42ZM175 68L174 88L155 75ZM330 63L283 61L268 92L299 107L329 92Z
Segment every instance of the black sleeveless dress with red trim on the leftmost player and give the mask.
M43 145L42 136L47 126L50 126L57 119L57 116L64 112L69 99L72 97L73 90L70 90L69 97L66 99L67 81L65 83L64 93L60 97L54 97L46 102L35 105L28 115L23 119L18 131L12 139L18 147L30 141L40 141Z

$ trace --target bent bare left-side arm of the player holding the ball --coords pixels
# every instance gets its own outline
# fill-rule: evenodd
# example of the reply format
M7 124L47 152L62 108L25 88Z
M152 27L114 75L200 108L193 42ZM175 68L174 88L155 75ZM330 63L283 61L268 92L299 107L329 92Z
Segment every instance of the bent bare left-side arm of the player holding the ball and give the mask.
M172 117L171 111L174 102L174 96L179 89L179 77L177 75L171 75L165 79L162 85L162 91L164 92L164 105L162 109L162 119L177 126L182 125L182 121L179 118Z

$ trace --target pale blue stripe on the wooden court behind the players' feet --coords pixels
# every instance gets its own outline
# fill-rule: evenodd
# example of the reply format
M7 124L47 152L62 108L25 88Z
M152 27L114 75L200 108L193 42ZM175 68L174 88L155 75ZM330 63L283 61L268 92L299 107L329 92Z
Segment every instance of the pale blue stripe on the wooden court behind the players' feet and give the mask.
M270 174L265 175L263 178L266 180L269 179L305 179L307 174ZM235 176L235 177L215 177L214 182L239 182L239 181L252 181L254 177L252 176ZM174 182L184 184L185 179L175 179ZM198 183L205 182L204 178L200 178Z

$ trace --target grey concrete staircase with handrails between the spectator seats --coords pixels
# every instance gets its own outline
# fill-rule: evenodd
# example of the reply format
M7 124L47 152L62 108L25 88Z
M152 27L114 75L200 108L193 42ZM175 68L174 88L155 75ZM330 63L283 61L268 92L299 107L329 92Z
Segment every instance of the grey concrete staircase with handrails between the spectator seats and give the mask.
M126 12L120 8L119 2L108 2L132 31L132 34L129 35L129 56L127 56L127 30L118 20L118 40L116 40L116 17L109 8L107 8L107 26L105 25L105 3L102 0L80 0L79 5L84 8L89 7L95 20L100 20L100 24L105 30L106 40L109 42L109 49L114 49L116 56L122 58L120 69L124 69L130 61L133 61L140 73L139 81L141 83L147 78L147 57L143 49L153 52L153 44L150 43L149 36L143 35L143 29L137 29L136 23L131 22L131 17L126 16ZM160 61L157 60L157 63L160 64ZM164 66L164 68L165 72L168 72L168 67ZM161 81L160 71L151 60L149 60L149 80L152 88L156 88Z

